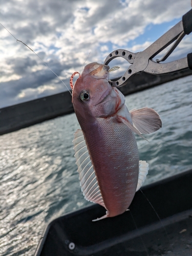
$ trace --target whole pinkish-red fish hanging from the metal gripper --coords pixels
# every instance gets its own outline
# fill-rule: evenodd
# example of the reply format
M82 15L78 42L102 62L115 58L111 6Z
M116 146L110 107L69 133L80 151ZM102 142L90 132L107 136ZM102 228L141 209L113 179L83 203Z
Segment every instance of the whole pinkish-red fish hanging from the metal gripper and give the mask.
M100 204L106 214L125 212L142 186L149 165L139 160L135 133L150 134L162 126L151 108L129 112L124 95L109 83L110 67L97 62L84 67L72 88L72 102L81 129L74 134L80 186L86 200ZM144 137L143 137L144 138Z

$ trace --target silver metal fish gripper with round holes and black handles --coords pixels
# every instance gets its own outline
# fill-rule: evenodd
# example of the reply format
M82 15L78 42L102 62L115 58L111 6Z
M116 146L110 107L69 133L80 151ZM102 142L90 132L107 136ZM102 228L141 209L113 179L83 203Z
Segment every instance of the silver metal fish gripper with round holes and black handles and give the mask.
M133 53L127 50L118 49L113 51L106 57L104 64L108 65L111 60L117 57L126 59L131 65L118 80L109 80L112 87L122 87L126 81L136 73L146 72L154 75L164 75L174 73L176 71L191 69L192 70L192 52L187 57L172 62L160 63L178 46L179 42L185 35L192 32L192 9L183 15L182 20L173 28L169 29L164 35L157 39L151 46L142 52ZM170 44L173 46L161 58L154 60L153 58L164 50ZM192 48L192 47L191 47Z

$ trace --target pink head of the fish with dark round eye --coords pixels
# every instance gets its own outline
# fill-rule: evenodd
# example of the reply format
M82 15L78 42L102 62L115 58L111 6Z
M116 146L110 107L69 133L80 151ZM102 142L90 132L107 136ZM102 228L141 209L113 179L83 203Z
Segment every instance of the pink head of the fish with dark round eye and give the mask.
M72 102L83 118L108 117L124 104L124 96L109 83L109 66L93 62L84 67L73 88ZM119 92L119 93L118 93Z

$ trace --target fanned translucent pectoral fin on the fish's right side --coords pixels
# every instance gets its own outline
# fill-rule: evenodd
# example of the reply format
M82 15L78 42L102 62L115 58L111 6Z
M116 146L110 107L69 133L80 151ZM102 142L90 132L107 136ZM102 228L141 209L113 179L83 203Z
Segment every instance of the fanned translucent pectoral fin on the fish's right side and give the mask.
M161 128L159 114L150 108L133 109L130 111L133 125L143 134L153 133Z

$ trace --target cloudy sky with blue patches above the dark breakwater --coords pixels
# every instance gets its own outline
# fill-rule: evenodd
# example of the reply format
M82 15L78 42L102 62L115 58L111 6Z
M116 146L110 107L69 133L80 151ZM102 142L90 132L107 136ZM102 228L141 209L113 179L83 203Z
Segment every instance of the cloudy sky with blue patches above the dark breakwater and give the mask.
M70 88L73 72L103 63L116 49L143 51L190 9L190 0L0 0L0 23ZM0 108L67 91L5 28L0 26ZM187 35L167 60L191 50L192 35ZM129 67L122 58L109 65L120 67L113 77Z

